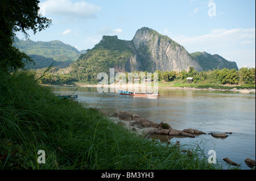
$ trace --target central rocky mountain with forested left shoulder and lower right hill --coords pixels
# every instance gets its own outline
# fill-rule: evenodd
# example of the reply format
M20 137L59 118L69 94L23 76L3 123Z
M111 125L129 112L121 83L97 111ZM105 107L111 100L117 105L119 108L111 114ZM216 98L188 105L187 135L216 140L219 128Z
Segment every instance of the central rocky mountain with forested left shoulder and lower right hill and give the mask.
M236 62L206 52L188 53L170 37L160 35L151 28L143 27L132 40L119 40L117 36L102 36L100 43L81 54L71 64L77 79L89 80L100 72L132 71L182 71L193 67L197 71L212 69L237 69ZM86 75L85 75L86 74Z

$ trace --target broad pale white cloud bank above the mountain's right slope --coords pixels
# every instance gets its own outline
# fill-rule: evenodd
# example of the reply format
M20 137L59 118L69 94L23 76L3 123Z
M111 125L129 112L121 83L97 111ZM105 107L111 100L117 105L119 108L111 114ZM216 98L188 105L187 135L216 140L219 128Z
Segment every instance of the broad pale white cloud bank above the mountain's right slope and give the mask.
M164 32L171 34L168 30ZM172 35L169 37L183 45L189 53L205 51L228 57L230 61L237 62L238 68L244 65L255 67L255 28L216 29L200 36Z

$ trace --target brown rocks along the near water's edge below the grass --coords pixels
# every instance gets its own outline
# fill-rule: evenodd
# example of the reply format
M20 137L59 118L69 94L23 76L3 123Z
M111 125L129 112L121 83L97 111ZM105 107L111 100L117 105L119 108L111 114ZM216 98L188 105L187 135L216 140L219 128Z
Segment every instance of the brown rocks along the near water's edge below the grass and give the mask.
M101 110L98 110L101 111ZM105 115L108 115L104 111L101 111ZM122 125L123 127L126 127L130 131L133 131L141 136L147 137L154 135L155 137L161 137L163 135L167 136L166 141L168 144L170 141L168 141L169 136L176 136L176 137L191 137L195 138L196 136L199 136L200 134L210 134L214 138L226 138L232 134L232 132L225 132L225 133L204 133L202 131L199 131L197 129L188 128L183 129L183 131L179 131L177 129L173 129L169 124L167 123L154 123L148 119L144 119L143 117L139 115L135 115L134 113L130 113L127 111L115 111L113 115L108 115L110 119L115 123ZM182 150L183 151L183 150ZM187 150L185 150L187 151ZM231 161L229 158L223 159L227 164L232 166L239 166L236 162ZM255 161L246 158L245 163L248 167L251 169L255 169Z

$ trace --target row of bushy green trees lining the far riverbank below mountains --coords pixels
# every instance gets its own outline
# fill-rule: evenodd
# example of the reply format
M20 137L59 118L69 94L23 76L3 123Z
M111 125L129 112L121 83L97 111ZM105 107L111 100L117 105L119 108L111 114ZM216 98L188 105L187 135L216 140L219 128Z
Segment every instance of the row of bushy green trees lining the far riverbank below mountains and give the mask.
M78 62L77 62L78 63ZM78 67L79 68L79 67ZM57 68L56 68L57 69ZM73 81L86 82L86 83L98 83L99 80L95 79L97 74L91 69L88 74L88 69L80 68L79 72L73 70L68 74L58 74L56 70L49 71L50 75L42 78L40 83L72 83ZM86 70L84 70L86 69ZM43 69L42 69L43 70ZM60 71L61 72L61 71ZM83 73L84 72L84 73ZM142 74L143 73L143 74ZM193 77L193 83L203 83L203 84L216 84L216 85L238 85L238 84L255 84L255 68L241 68L236 69L216 69L209 71L197 72L194 68L189 68L189 71L183 70L177 71L162 71L156 70L158 73L158 81L162 82L172 82L179 81L180 83L187 82L188 77ZM39 73L40 75L42 73ZM109 73L107 73L109 74ZM147 78L148 71L133 71L133 77L128 72L125 72L126 81L129 79L138 79L141 75L145 75ZM77 77L79 75L79 77ZM138 75L139 77L136 77ZM141 77L141 81L142 81ZM151 81L154 80L154 74L151 73Z

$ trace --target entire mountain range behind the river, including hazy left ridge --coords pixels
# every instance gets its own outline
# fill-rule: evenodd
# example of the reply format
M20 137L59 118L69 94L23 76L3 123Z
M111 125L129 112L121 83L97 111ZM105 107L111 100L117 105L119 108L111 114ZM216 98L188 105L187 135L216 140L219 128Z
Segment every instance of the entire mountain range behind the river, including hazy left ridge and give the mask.
M236 62L218 54L188 53L170 37L147 27L137 30L132 40L119 40L116 35L102 36L100 43L90 50L79 51L58 40L44 42L16 38L15 46L35 59L37 65L32 66L34 68L49 66L51 59L47 58L52 58L59 68L66 68L73 62L72 74L78 79L91 79L100 72L108 73L109 68L115 68L115 72L188 71L189 67L197 71L238 70Z

